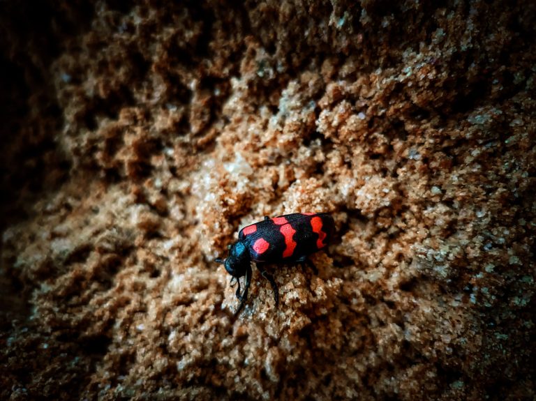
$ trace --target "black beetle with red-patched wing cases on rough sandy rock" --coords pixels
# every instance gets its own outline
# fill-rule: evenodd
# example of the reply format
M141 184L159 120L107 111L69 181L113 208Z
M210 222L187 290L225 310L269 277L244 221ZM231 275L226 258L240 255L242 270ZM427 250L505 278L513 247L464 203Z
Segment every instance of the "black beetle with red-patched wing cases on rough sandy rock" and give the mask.
M242 228L238 241L228 245L228 257L215 259L232 275L231 287L234 286L233 280L238 283L236 296L240 304L234 315L238 315L248 297L252 275L251 262L255 262L262 277L269 281L277 307L278 288L274 277L265 270L264 264L307 264L318 274L308 256L325 248L334 231L334 220L327 213L292 213L274 218L265 216L265 220ZM244 275L244 293L241 294L240 278Z

